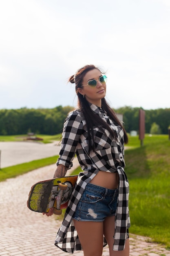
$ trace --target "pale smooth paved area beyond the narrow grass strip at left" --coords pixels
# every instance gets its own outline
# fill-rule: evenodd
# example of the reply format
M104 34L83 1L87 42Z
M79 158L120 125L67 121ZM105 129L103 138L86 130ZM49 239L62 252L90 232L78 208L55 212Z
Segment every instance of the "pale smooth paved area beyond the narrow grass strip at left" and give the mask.
M0 141L0 168L52 157L60 152L59 141L44 144L36 141Z

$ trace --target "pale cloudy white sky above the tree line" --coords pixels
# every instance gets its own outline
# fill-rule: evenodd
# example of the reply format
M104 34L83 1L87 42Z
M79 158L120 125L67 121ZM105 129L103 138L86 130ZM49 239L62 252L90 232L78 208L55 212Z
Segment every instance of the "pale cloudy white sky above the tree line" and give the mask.
M0 0L0 109L76 107L86 64L112 108L170 108L170 0Z

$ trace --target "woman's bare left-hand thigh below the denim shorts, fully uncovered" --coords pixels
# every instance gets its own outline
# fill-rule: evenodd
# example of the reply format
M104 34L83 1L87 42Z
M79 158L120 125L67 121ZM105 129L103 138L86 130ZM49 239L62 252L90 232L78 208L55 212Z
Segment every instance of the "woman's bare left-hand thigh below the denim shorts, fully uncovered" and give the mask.
M103 222L73 220L84 256L102 256Z

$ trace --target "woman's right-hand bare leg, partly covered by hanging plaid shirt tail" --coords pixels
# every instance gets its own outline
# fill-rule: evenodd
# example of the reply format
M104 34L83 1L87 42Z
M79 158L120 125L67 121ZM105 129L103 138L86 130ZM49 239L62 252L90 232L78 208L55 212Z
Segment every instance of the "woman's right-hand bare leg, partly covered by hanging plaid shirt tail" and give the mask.
M115 234L115 216L107 217L104 220L104 236L109 246L110 256L129 256L129 239L126 240L125 249L123 251L113 251Z

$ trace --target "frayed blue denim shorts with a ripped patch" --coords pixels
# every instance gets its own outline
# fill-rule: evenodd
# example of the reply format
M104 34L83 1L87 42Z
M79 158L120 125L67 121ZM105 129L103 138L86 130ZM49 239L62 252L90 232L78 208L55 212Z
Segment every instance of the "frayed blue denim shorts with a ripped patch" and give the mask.
M118 189L106 189L88 183L80 198L74 220L102 222L108 216L115 216Z

